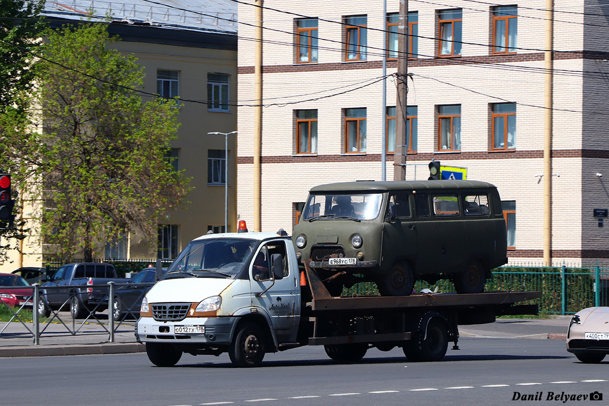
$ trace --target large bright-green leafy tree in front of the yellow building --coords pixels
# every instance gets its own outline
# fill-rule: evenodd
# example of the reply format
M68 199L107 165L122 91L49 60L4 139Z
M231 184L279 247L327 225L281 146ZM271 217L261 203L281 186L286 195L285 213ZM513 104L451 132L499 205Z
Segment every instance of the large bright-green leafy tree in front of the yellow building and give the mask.
M111 49L104 24L48 30L35 67L42 131L37 161L41 233L60 257L138 231L156 243L158 218L175 209L188 179L166 152L178 129L174 100L143 101L143 68Z

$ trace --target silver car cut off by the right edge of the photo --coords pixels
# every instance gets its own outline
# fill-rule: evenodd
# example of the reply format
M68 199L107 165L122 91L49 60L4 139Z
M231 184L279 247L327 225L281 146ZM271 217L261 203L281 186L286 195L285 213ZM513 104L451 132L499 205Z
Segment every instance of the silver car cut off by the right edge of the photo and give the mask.
M609 307L588 307L571 318L567 351L583 363L599 363L609 354Z

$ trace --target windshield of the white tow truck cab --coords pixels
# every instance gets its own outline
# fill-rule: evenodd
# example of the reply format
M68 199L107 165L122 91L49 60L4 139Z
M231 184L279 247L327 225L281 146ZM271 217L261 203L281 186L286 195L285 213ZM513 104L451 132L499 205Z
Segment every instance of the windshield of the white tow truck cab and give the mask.
M171 264L164 279L234 278L250 262L256 240L217 238L190 242Z

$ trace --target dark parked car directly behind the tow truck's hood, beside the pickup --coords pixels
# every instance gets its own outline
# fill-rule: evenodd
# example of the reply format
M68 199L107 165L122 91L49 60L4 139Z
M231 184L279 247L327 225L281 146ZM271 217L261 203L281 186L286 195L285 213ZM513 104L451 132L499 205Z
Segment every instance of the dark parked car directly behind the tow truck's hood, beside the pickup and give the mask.
M167 268L163 268L163 275ZM139 317L139 307L142 299L157 282L157 271L155 268L145 268L133 276L127 285L116 287L112 301L114 320L123 320L129 316Z

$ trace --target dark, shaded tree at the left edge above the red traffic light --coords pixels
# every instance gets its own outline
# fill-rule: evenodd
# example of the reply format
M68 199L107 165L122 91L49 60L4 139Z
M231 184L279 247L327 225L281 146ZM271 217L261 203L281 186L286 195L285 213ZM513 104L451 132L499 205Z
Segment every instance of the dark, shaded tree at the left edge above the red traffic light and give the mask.
M0 173L12 176L12 198L17 201L13 213L21 210L21 192L31 174L27 159L29 149L29 91L33 86L32 64L44 29L40 11L44 0L0 1ZM24 149L14 149L24 145ZM8 220L0 220L0 261L8 259L9 250L19 250L19 240L26 237L23 220L12 228Z

